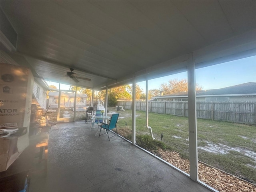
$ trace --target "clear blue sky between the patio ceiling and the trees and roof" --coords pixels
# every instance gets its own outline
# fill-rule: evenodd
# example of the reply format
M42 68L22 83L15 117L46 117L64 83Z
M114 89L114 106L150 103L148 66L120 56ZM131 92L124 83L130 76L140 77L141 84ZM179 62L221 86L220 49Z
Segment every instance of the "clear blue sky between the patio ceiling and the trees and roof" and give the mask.
M187 79L187 72L148 80L148 90L159 89L160 84L172 79ZM196 83L203 90L218 89L237 84L256 82L256 56L225 62L196 70ZM146 83L138 83L146 91Z

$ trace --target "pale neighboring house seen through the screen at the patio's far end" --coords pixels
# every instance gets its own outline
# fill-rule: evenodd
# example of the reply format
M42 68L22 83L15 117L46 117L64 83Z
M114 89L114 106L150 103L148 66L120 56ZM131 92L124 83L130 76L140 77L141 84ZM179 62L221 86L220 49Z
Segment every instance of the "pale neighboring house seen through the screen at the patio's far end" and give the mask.
M74 107L74 93L72 92L62 92L60 100L60 107ZM48 94L48 105L51 105L50 108L58 108L59 102L59 93L58 92L49 92ZM83 108L86 107L86 100L88 96L86 94L76 94L76 107Z

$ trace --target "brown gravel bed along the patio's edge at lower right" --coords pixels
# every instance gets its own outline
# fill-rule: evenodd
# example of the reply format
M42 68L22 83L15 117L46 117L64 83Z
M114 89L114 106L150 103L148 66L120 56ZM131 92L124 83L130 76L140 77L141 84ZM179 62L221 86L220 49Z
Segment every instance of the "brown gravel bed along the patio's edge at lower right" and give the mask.
M159 157L189 174L189 160L180 158L178 152L158 150ZM256 185L198 163L198 178L220 192L256 192Z

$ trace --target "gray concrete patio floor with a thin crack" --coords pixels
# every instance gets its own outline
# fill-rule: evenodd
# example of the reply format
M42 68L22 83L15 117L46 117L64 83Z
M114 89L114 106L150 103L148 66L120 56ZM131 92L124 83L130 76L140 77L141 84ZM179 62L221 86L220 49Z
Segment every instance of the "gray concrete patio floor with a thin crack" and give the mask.
M210 192L118 136L98 138L90 122L58 123L49 134L48 174L32 176L30 192Z

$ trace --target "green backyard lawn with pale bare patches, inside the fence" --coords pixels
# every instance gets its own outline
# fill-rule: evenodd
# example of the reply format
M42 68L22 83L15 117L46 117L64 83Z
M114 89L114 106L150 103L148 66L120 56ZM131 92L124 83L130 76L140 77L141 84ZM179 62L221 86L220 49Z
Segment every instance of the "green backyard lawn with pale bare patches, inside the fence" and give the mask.
M113 111L114 108L109 108ZM131 138L132 111L119 112L118 130ZM136 111L136 134L148 134L145 112ZM125 126L125 124L127 124ZM167 114L148 114L156 140L188 158L188 118ZM197 119L198 160L256 183L256 126Z

